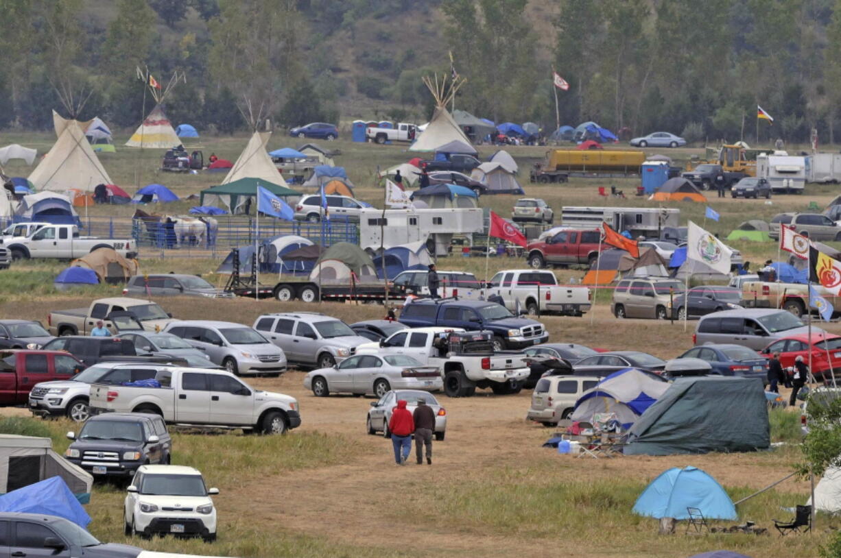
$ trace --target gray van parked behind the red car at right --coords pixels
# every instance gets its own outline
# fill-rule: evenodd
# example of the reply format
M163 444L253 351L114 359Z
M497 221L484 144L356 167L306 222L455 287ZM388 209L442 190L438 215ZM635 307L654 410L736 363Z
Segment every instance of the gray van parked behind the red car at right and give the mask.
M808 328L793 313L778 308L742 308L723 310L702 316L692 335L695 345L731 343L762 350L770 343L794 334L806 334ZM812 332L823 330L812 326Z

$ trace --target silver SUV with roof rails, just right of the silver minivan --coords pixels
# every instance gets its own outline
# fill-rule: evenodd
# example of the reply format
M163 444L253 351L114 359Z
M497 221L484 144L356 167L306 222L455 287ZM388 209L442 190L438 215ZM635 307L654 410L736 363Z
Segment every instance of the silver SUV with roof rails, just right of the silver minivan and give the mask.
M289 362L315 368L332 368L369 342L341 319L315 312L263 314L254 329L283 349Z

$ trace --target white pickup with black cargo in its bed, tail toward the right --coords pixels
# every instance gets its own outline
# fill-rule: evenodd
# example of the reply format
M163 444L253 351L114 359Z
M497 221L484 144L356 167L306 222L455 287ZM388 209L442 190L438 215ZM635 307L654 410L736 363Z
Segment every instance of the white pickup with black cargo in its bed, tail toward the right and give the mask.
M526 355L496 353L493 334L460 328L403 329L379 343L357 347L357 355L409 355L426 366L437 366L449 397L470 397L476 388L490 387L498 395L519 393L529 376Z

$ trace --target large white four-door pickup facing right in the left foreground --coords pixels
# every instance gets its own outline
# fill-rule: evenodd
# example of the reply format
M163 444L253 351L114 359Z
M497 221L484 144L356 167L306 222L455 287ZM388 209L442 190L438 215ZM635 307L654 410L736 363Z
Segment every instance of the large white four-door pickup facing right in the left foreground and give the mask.
M91 386L91 413L152 413L169 424L285 434L301 424L298 401L262 392L227 371L162 366L161 387Z

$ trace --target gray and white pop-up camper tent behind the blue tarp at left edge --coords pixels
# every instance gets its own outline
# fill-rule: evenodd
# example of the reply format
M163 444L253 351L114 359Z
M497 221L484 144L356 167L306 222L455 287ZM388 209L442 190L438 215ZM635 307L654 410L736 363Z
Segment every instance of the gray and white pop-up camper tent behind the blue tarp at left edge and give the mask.
M0 434L0 494L60 476L81 503L91 499L93 476L52 450L49 438Z

